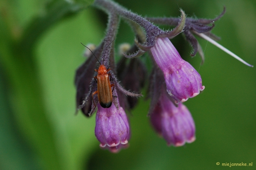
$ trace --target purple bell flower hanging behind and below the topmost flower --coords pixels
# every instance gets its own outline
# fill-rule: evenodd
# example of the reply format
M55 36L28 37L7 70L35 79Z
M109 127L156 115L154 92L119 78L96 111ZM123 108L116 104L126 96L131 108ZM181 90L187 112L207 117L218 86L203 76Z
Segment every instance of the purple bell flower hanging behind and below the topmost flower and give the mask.
M166 92L160 96L150 119L155 130L164 137L168 145L182 146L196 139L195 123L189 110L182 103L176 107Z

